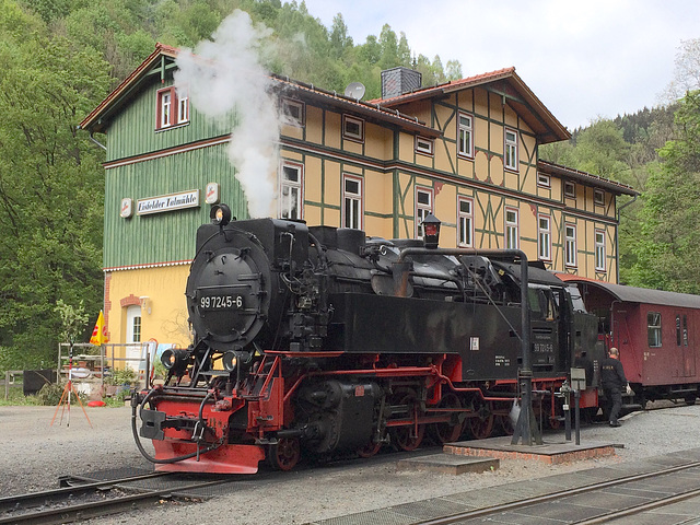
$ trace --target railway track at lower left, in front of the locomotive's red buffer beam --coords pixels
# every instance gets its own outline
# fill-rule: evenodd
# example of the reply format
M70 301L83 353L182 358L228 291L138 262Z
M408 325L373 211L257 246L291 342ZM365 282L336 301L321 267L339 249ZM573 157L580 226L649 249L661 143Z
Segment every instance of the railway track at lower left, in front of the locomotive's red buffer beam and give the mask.
M186 499L187 493L222 485L230 478L166 483L156 489L139 488L138 482L153 478L175 478L170 472L153 472L106 481L79 482L70 487L0 499L0 524L62 524L105 516L151 505L163 500ZM191 495L189 495L191 498Z

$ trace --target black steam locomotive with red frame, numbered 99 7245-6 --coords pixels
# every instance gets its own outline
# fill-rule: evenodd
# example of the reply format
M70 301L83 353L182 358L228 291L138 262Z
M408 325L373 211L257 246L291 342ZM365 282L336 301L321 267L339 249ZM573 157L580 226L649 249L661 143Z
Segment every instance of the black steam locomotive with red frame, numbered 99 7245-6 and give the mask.
M192 343L164 352L165 384L132 397L137 446L158 470L289 470L302 454L512 431L524 307L546 420L571 366L596 359L597 317L536 266L523 296L521 252L438 248L428 219L424 241L231 221L224 205L211 219L186 288Z

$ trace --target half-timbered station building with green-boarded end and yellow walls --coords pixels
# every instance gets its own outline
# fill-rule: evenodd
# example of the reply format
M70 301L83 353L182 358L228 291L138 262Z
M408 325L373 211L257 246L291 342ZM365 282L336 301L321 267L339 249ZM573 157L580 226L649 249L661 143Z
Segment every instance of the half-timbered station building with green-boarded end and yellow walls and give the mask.
M106 136L105 316L112 341L186 346L184 300L195 232L209 205L247 217L231 129L174 88L177 50L158 45L81 124ZM431 88L383 73L362 102L272 78L284 116L278 217L419 237L428 213L443 247L520 248L559 272L617 281L617 198L635 190L538 159L570 133L502 69Z

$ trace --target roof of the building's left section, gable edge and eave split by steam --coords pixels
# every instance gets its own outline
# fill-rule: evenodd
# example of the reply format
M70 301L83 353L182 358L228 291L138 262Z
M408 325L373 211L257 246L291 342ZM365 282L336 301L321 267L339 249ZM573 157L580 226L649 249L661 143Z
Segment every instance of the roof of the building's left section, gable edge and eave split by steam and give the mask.
M143 80L145 78L160 72L161 78L159 80L163 80L166 69L176 68L174 60L178 54L179 49L175 47L160 43L156 44L155 50L80 122L80 128L94 132L104 132L112 115L116 114L130 101L131 96L143 86ZM154 69L159 65L161 67ZM442 135L440 130L425 126L425 124L418 120L417 117L404 115L397 109L357 101L336 92L322 90L313 84L306 84L289 78L271 75L270 79L276 89L296 91L302 93L305 98L315 100L346 110L352 110L365 118L394 124L402 129L425 137L434 138Z

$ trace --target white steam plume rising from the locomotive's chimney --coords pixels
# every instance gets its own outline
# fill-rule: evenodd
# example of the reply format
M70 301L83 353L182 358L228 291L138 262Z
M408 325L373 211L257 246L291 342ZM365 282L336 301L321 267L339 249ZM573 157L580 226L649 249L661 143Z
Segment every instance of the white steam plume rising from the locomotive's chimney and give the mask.
M276 200L280 122L271 80L258 60L271 33L236 10L211 40L199 43L194 52L184 49L176 59L178 92L186 92L202 114L233 127L229 159L252 218L272 214Z

